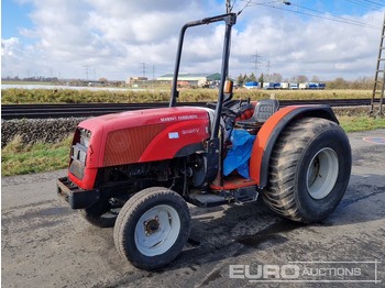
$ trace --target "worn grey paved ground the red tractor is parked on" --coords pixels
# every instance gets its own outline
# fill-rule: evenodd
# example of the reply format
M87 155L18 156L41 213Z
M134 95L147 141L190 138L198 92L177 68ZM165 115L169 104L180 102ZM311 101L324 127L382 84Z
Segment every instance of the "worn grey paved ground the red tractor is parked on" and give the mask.
M172 264L152 273L119 257L113 229L89 225L57 198L55 179L65 170L4 177L2 286L384 287L385 145L362 140L369 136L385 137L385 129L349 134L353 148L350 185L341 204L323 222L296 224L275 215L261 201L191 207L190 241ZM282 268L304 262L355 267L360 275L353 279L359 283L250 281L258 265ZM254 267L251 275L244 273L246 265ZM231 278L232 272L239 278Z

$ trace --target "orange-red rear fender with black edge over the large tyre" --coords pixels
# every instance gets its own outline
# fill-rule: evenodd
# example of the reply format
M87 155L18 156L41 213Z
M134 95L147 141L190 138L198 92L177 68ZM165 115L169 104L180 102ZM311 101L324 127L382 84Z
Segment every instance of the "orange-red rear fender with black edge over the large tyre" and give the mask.
M339 124L329 106L289 106L274 113L262 125L250 158L250 177L261 189L267 185L270 158L279 134L288 123L302 117L323 118Z

